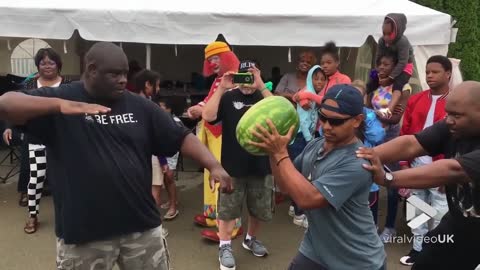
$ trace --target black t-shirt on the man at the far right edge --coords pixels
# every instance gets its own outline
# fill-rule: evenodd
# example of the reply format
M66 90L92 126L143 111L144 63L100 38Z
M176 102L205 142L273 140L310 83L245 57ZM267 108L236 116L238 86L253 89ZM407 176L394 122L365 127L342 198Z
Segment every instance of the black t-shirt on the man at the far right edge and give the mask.
M447 185L448 206L455 219L467 218L480 225L480 138L455 139L445 121L415 136L430 156L455 158L472 179L465 184Z

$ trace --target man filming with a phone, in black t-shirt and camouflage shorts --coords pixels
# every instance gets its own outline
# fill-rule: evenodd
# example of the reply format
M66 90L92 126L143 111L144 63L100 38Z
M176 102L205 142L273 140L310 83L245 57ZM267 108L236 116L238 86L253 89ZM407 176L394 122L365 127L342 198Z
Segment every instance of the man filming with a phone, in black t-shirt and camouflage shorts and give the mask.
M270 177L268 157L249 154L236 138L236 127L240 118L251 106L272 94L265 87L254 62L242 61L239 72L251 72L254 75L253 84L234 85L234 73L225 73L202 113L205 121L212 124L222 123L221 163L234 178L233 193L219 194L218 199L219 261L222 270L235 269L231 238L235 219L241 217L245 198L250 215L243 247L252 251L255 256L263 257L267 254L266 248L256 236L260 222L272 218L273 179Z

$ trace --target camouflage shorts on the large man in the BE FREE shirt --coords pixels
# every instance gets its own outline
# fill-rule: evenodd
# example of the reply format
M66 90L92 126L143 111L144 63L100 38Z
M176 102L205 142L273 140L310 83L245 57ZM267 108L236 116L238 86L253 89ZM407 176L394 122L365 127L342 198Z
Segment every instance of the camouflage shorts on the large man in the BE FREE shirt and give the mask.
M82 245L57 238L57 270L169 270L167 242L162 226Z

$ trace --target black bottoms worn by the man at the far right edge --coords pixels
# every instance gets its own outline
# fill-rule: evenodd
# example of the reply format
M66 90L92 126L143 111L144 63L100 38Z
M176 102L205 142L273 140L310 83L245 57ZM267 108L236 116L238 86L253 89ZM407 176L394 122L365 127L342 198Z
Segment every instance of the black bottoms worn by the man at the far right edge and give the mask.
M475 269L480 265L479 227L480 222L477 220L467 220L463 217L454 220L450 213L445 214L440 224L425 236L437 239L436 243L423 242L422 252L418 254L412 270Z

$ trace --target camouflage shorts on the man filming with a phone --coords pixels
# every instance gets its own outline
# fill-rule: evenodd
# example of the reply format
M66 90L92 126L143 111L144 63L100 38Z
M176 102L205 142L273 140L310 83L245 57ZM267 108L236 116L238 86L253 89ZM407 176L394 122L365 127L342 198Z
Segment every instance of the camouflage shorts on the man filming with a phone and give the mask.
M242 216L246 198L248 213L261 220L270 221L273 215L273 177L246 177L233 179L231 194L219 193L218 218L233 220Z

